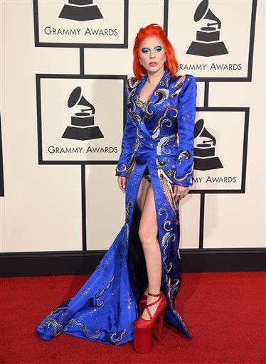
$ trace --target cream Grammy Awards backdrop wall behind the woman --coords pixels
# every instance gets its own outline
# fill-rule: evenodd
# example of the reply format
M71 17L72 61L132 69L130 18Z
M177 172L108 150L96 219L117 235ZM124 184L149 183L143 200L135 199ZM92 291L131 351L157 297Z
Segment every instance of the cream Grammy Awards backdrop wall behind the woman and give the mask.
M149 23L198 83L181 247L265 245L264 1L10 0L1 13L1 252L110 247L124 82Z

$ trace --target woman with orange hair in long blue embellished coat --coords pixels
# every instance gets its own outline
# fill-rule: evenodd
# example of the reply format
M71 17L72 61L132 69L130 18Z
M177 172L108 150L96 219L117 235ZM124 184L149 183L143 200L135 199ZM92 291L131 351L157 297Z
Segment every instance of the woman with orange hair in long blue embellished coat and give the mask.
M125 192L125 222L105 256L75 296L50 312L36 331L111 345L134 339L151 351L164 318L191 339L175 308L180 287L179 201L193 184L196 80L176 75L178 63L163 29L141 28L134 43L127 122L116 167ZM142 295L143 294L143 295Z

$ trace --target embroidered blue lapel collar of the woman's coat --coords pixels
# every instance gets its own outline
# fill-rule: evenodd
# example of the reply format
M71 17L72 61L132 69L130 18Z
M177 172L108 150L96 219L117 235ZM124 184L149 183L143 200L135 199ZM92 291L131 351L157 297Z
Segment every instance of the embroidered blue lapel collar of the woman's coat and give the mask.
M139 83L137 83L134 92L132 92L132 108L130 108L129 112L132 114L133 119L137 121L137 126L139 127L139 129L141 129L142 133L146 134L147 137L152 139L146 124L149 122L149 119L151 119L151 117L154 117L154 114L159 111L161 106L164 105L164 102L169 97L169 82L171 80L171 74L168 68L164 69L164 74L162 75L161 80L159 81L158 85L156 85L154 91L149 97L144 120L142 110L137 105L136 101L137 95L139 95L140 91L142 90L142 87L144 86L147 77L148 73L145 73L145 75L142 76L141 80L139 80Z

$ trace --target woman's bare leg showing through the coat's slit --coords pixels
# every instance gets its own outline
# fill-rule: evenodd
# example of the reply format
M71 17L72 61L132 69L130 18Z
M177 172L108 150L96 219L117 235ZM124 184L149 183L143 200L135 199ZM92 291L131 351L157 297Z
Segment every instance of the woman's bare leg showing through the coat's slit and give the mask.
M142 218L139 223L139 238L142 241L144 257L146 261L147 274L149 280L149 292L159 294L161 289L161 251L157 239L158 226L156 218L156 208L154 193L151 183L147 188L146 198L142 209ZM151 304L158 297L148 296L147 304ZM149 307L151 315L154 315L160 301ZM149 320L147 309L144 309L142 318Z

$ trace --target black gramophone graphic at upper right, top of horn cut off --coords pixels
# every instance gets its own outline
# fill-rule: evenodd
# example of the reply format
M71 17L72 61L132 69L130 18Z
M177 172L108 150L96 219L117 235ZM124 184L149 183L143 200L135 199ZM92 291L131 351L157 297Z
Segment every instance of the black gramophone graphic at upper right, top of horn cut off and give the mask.
M203 57L228 54L225 44L220 41L220 31L218 30L221 26L220 19L213 14L211 9L208 9L208 0L202 0L195 11L194 21L200 21L202 18L214 21L214 23L207 23L207 26L203 26L200 31L197 31L196 41L191 42L186 53Z

